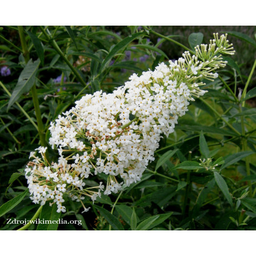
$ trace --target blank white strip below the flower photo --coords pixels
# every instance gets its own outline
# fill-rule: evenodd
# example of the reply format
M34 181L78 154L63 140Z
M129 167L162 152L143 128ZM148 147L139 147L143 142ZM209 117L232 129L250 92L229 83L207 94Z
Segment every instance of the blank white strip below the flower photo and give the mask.
M0 239L11 255L255 254L255 231L2 231Z

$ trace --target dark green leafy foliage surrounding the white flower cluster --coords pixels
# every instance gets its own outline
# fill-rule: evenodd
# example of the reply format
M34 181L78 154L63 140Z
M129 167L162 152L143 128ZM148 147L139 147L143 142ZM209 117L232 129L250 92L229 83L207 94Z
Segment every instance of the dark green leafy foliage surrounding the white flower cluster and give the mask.
M29 220L40 207L29 199L23 170L29 152L47 146L51 121L86 93L112 92L214 32L229 33L236 53L225 56L214 82L204 81L209 92L161 140L141 181L94 205L85 199L87 213L68 198L64 214L47 205L38 212L82 225L28 229L255 230L255 27L238 26L0 28L0 68L11 71L0 75L0 229L21 228L7 219Z

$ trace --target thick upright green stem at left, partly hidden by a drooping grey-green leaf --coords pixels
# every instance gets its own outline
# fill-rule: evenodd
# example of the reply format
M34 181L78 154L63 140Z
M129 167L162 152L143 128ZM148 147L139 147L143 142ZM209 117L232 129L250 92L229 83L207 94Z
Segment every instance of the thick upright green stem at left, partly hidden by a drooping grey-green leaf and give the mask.
M18 26L18 31L19 31L19 37L21 38L21 45L22 45L22 50L23 50L23 56L24 56L25 61L27 63L29 61L29 52L28 52L27 43L26 43L25 36L24 36L23 27L22 26ZM39 101L38 101L38 97L37 97L36 85L32 86L31 93L32 93L33 104L34 104L35 112L36 112L38 133L39 133L41 145L46 147L47 144L46 144L45 132L44 132L45 131L45 127L43 127L43 121L42 121Z

